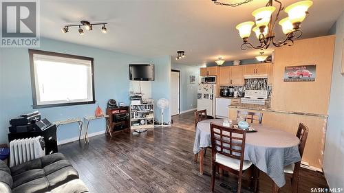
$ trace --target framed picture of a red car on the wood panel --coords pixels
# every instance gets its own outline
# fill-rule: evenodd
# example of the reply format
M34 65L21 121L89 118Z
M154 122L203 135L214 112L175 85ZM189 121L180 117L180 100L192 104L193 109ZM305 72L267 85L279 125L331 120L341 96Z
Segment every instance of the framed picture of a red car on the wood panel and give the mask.
M284 82L315 81L316 65L303 65L286 67Z

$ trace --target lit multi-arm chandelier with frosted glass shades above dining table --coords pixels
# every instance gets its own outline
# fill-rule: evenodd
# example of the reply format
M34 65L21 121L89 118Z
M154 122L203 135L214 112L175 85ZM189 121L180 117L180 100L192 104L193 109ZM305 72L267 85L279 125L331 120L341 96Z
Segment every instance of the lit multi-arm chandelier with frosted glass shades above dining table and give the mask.
M275 45L275 47L282 47L283 45L292 46L294 39L299 38L302 35L302 31L299 28L301 27L301 22L308 15L308 8L310 8L313 2L309 0L299 1L284 9L280 1L274 1L279 4L278 12L274 21L272 21L272 13L275 12L276 8L272 6L272 0L269 0L265 7L252 12L252 15L255 16L255 23L252 21L246 21L235 27L239 30L239 36L244 41L240 47L242 50L245 50L247 47L267 49L270 44ZM274 27L279 20L279 14L282 10L288 13L288 17L279 21L279 25L281 25L283 34L286 35L286 38L281 41L275 41ZM253 27L253 25L256 26ZM255 32L260 45L255 46L248 42L251 30Z

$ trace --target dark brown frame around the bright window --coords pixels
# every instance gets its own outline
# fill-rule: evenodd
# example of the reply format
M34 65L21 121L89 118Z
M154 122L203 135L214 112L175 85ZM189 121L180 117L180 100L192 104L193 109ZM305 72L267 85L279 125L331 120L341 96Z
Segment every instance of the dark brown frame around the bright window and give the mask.
M39 49L28 49L29 58L30 58L30 75L31 75L31 91L32 91L32 108L41 109L57 106L72 106L79 104L95 104L96 96L94 91L94 58L86 56L77 56L72 54L62 54L58 52L47 52ZM55 103L55 104L37 104L37 95L36 95L36 80L35 80L35 70L34 70L34 54L46 55L46 56L56 56L61 58L72 58L79 60L89 60L91 62L91 80L92 80L92 100L83 101L83 102L65 102L65 103Z

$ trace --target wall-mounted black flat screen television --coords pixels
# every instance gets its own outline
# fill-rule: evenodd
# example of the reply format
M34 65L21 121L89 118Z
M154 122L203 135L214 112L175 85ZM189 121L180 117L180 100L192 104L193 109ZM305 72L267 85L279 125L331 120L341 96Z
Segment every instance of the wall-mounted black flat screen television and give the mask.
M130 80L153 81L154 78L154 65L129 65Z

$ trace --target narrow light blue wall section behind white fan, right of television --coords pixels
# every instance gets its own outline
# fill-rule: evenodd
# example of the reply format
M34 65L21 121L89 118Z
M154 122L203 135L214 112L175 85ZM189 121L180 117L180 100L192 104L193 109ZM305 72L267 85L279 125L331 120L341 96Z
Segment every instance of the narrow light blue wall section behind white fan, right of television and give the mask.
M160 98L166 98L171 102L171 56L160 56L151 59L155 64L155 81L151 84L151 96L155 102L155 118L160 120L160 109L156 102ZM171 121L171 108L164 110L164 122Z

